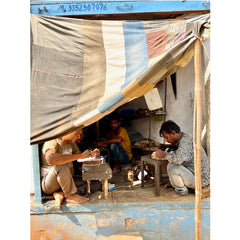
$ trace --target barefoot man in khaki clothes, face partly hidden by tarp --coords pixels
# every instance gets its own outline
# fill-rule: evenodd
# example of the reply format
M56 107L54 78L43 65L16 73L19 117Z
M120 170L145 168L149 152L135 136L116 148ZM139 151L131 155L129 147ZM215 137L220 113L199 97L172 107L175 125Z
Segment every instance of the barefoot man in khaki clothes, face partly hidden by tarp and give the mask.
M81 153L75 143L81 138L81 134L82 129L45 142L42 147L41 170L45 170L42 179L42 191L46 194L53 193L58 209L61 208L63 199L76 204L85 203L89 200L76 194L77 188L72 178L72 162L81 158L99 156L100 153L99 151L92 153L90 150Z

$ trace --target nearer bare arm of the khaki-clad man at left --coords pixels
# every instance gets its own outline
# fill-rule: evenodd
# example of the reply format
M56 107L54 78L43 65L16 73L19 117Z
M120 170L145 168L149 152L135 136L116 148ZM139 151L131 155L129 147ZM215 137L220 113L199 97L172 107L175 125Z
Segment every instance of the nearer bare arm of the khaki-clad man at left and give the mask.
M54 150L49 149L45 153L45 158L47 162L51 165L63 165L69 162L73 162L77 159L87 158L91 156L90 150L85 150L83 153L68 155L68 154L60 154L56 153Z

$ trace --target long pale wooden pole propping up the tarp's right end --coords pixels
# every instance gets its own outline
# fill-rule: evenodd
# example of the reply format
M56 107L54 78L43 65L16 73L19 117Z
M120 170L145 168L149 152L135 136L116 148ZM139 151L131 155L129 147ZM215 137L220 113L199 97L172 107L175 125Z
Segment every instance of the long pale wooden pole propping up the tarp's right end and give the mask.
M196 124L196 156L194 156L195 165L195 239L201 239L201 136L202 136L202 77L201 77L201 43L196 39L194 43L194 68L195 68L195 98L197 107L197 124ZM195 111L195 109L194 109Z

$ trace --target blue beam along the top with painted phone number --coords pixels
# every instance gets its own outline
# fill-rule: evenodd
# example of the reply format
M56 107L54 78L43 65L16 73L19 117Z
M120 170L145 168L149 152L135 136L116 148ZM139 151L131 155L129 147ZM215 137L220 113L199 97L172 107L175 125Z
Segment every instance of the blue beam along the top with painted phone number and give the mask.
M30 8L32 14L49 16L203 10L210 10L210 1L31 1Z

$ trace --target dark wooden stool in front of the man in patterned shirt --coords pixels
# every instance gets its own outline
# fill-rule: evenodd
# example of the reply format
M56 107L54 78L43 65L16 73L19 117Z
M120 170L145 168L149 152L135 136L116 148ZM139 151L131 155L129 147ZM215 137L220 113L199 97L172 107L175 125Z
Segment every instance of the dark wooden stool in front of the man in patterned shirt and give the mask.
M149 155L141 157L141 177L142 177L142 188L144 187L144 162L153 164L155 166L155 196L160 196L160 184L162 176L162 166L167 164L167 160L155 160Z

